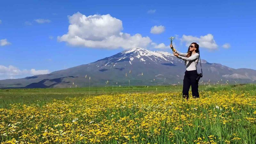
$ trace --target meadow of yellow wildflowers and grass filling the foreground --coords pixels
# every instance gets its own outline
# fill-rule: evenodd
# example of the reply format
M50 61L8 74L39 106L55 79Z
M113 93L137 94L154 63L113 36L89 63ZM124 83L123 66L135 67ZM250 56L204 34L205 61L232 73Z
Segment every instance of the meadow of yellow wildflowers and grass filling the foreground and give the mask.
M190 92L191 96L191 92ZM0 108L0 140L57 144L255 144L256 96L234 90L120 93Z

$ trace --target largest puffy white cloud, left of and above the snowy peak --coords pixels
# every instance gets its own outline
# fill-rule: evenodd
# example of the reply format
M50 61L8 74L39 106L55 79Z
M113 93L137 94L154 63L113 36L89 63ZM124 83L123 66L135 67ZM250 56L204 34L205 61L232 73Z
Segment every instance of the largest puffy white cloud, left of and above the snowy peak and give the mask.
M122 47L131 49L134 47L146 47L152 42L140 34L131 36L123 30L122 21L107 15L85 16L80 12L68 16L70 25L68 33L58 36L59 42L67 42L72 46L91 48L116 49Z

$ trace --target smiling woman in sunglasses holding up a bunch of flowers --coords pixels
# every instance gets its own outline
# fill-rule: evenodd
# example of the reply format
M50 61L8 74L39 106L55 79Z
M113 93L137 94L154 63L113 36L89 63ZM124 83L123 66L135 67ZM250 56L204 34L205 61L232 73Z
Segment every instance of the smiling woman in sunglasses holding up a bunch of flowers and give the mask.
M172 44L170 44L170 47L172 48ZM196 43L190 44L190 46L188 47L187 53L181 53L174 48L172 49L172 51L174 56L184 60L185 65L187 67L185 71L185 76L183 79L183 89L182 89L183 98L188 99L188 91L189 91L190 85L192 89L192 97L199 98L198 81L196 80L196 77L197 77L196 65L199 60L199 45Z

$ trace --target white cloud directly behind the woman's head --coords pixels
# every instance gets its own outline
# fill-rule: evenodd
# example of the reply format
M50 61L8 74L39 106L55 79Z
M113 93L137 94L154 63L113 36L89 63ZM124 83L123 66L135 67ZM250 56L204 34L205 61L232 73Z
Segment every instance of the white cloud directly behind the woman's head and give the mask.
M191 43L196 42L197 44L199 44L199 48L203 47L203 48L207 48L210 50L214 50L214 49L218 48L218 45L216 44L215 40L213 39L212 34L200 36L200 38L196 37L196 36L183 35L181 38L181 41L185 42L186 46L189 46Z

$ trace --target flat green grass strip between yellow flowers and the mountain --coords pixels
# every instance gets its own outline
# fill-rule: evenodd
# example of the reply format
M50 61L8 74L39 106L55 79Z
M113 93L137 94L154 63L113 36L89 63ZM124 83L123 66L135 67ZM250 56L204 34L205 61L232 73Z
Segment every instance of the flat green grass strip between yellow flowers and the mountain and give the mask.
M237 84L237 85L199 85L198 91L224 91L235 90L236 92L248 91L256 95L256 84ZM190 90L191 91L191 88ZM136 92L182 92L182 85L168 86L108 86L108 87L83 87L83 88L36 88L36 89L0 89L0 108L7 108L12 103L33 103L36 100L44 103L53 99L63 100L67 97L84 97L88 95L118 93L136 93Z

